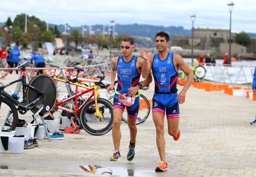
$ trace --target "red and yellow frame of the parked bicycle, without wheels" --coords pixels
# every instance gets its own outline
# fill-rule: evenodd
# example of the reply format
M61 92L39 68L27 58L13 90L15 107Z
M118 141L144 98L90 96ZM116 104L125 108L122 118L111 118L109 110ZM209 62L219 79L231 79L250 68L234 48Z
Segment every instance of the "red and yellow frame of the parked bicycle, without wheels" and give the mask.
M64 82L64 83L67 82L66 80L57 78L56 76L54 76L54 81L59 81L59 82ZM76 116L78 116L80 114L80 111L83 108L83 106L94 96L95 105L96 105L96 116L99 117L100 113L99 113L99 108L98 108L98 103L97 103L97 98L98 98L98 90L97 90L98 88L97 88L97 86L87 87L87 86L84 86L83 84L80 84L78 82L72 83L70 81L67 82L67 83L70 84L70 85L75 86L75 94L73 96L70 96L70 97L60 101L60 102L57 102L55 109L56 110L61 109L61 110L64 110L66 112L69 112L69 113L72 113L72 114L75 114ZM78 91L79 87L85 88L86 90ZM78 97L85 94L85 93L88 93L90 91L93 91L93 93L90 95L89 98L87 98L82 103L81 106L78 107ZM69 102L69 101L73 100L74 98L75 98L74 110L71 110L71 109L68 109L68 108L65 108L65 107L62 106L64 103Z

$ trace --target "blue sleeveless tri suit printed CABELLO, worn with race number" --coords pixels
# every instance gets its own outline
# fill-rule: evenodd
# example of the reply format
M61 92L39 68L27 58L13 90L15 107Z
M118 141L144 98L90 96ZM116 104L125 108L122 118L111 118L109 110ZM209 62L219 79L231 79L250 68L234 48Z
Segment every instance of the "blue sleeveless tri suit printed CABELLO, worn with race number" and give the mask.
M126 62L123 56L118 57L117 61L117 89L119 93L128 93L128 89L138 85L140 80L140 73L136 68L137 56L133 56L129 62ZM118 94L114 96L113 109L121 109L124 111L125 105L118 101ZM135 102L131 107L127 106L128 118L137 118L139 112L139 96L135 98Z

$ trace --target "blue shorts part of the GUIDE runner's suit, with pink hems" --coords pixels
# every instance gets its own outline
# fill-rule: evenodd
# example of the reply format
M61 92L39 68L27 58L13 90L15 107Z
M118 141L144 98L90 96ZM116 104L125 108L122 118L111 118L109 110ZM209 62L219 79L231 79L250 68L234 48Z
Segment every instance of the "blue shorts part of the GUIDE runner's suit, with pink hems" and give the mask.
M160 94L154 93L152 99L152 112L165 114L167 118L180 118L178 94Z

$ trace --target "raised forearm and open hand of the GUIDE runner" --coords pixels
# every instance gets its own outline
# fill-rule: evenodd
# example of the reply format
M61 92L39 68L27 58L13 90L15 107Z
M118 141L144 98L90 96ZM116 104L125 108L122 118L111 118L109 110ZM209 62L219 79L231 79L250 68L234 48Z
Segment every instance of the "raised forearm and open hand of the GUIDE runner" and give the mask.
M140 51L140 55L145 60L144 65L143 65L143 67L141 69L141 75L145 79L145 78L147 78L147 76L150 73L154 56L149 55L147 49L146 49L146 52L141 50Z

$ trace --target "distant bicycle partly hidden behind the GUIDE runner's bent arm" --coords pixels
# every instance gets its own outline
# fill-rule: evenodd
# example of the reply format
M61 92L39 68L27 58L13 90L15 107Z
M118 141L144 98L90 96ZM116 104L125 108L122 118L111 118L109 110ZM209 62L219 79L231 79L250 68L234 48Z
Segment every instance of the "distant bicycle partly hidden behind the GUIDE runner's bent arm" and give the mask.
M206 70L203 66L191 66L190 69L194 74L194 82L200 82L200 80L203 79L206 74ZM186 84L187 78L188 76L182 71L178 74L177 83L181 86L184 86Z

